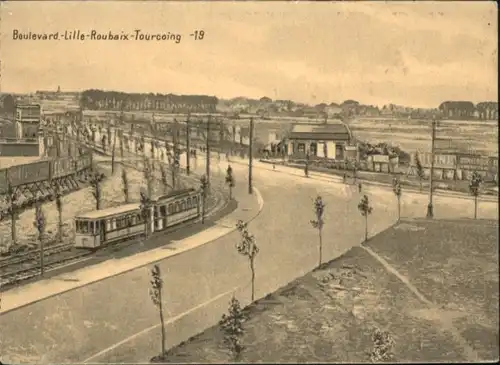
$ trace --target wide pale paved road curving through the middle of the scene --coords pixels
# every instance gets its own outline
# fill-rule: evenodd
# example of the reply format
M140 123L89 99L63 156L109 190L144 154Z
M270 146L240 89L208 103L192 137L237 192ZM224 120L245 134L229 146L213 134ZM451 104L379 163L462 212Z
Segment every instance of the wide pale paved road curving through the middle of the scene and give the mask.
M224 173L226 163L213 172ZM246 167L233 163L238 188L245 194ZM311 270L318 260L317 232L311 227L312 202L321 194L327 205L324 258L331 259L359 244L364 220L357 210L359 193L339 183L307 179L260 169L255 185L264 210L250 224L260 248L256 259L256 296L277 289ZM203 171L201 161L197 169ZM396 219L393 194L367 187L374 213L370 234ZM404 216L423 216L427 198L406 194ZM471 216L470 201L435 199L437 217ZM498 218L496 203L480 206L482 217ZM185 340L193 329L213 324L227 308L232 291L246 304L250 298L248 262L234 248L235 232L211 244L174 256L160 264L165 274L168 344ZM148 268L109 278L58 297L0 316L2 360L7 362L135 362L148 361L159 351L158 314L148 295ZM215 298L215 299L214 299ZM182 316L183 313L188 315Z

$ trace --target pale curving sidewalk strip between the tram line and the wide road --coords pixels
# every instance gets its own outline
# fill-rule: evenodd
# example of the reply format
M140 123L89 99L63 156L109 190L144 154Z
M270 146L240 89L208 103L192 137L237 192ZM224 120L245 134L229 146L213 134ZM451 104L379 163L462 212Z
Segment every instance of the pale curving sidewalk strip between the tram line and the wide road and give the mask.
M168 246L158 247L120 259L110 259L96 265L56 275L0 293L0 314L167 259L221 238L236 230L238 220L241 219L245 222L253 220L264 206L262 196L256 188L254 195L240 192L236 197L238 208L235 211L214 222L214 226L193 236L174 241Z

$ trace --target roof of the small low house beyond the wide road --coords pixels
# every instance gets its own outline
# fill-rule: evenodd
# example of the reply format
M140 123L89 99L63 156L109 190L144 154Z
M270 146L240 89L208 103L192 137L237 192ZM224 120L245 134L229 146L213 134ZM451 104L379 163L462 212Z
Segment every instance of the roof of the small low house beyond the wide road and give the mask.
M352 135L349 127L336 119L326 124L295 124L289 138L347 141Z

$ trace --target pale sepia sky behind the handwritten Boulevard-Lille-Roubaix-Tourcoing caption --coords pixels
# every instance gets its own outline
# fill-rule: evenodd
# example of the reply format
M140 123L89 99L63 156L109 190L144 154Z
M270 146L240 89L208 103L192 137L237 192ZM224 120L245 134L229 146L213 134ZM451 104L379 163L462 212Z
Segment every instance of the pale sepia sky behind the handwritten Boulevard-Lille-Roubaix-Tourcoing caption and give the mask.
M437 107L498 99L495 2L0 3L1 92L207 94ZM14 40L13 32L181 34ZM204 31L202 40L189 34Z

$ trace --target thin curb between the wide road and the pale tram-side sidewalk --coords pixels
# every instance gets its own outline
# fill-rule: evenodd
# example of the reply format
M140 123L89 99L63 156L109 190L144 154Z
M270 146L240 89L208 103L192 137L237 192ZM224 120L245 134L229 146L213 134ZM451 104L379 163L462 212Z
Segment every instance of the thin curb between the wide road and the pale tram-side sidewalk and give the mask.
M259 191L257 188L255 188L255 187L254 187L254 191L255 191L255 193L256 193L256 195L257 195L257 203L258 203L259 208L258 208L257 213L256 213L256 214L255 214L252 218L250 218L250 219L247 221L247 223L250 223L250 222L251 222L251 221L253 221L255 218L257 218L257 217L260 215L260 213L262 212L262 209L264 208L264 200L263 200L263 198L262 198L262 195L261 195L260 191ZM226 216L226 217L227 217L227 216ZM221 219L222 219L222 218L221 218ZM38 299L35 299L35 300L33 300L33 301L29 302L29 303L21 304L21 305L19 305L19 306L15 307L15 308L10 308L10 309L7 309L7 310L5 310L5 311L1 311L1 309L0 309L0 316L3 316L3 315L5 315L5 314L7 314L7 313L9 313L9 312L13 312L13 311L16 311L16 310L18 310L18 309L21 309L21 308L27 307L27 306L29 306L29 305L32 305L32 304L35 304L35 303L41 302L41 301L43 301L43 300L50 299L50 298L52 298L52 297L56 297L56 296L58 296L58 295L61 295L61 294L64 294L64 293L67 293L67 292L70 292L70 291L73 291L73 290L77 290L77 289L80 289L80 288L86 287L86 286L88 286L88 285L95 284L95 283L98 283L98 282L100 282L100 281L103 281L103 280L106 280L106 279L109 279L109 278L113 278L113 277L115 277L115 276L122 275L122 274L128 273L128 272L130 272L130 271L140 269L140 268L145 267L145 266L152 265L152 264L154 264L154 263L157 263L157 262L160 262L160 261L163 261L163 260L167 260L167 259L169 259L169 258L171 258L171 257L174 257L174 256L177 256L177 255L180 255L180 254L182 254L182 253L184 253L184 252L191 251L191 250L193 250L193 249L196 249L196 248L198 248L198 247L201 247L201 246L204 246L204 245L206 245L206 244L208 244L208 243L211 243L211 242L213 242L213 241L215 241L215 240L218 240L218 239L220 239L220 238L222 238L222 237L225 237L225 236L227 236L227 235L229 235L229 234L233 233L233 232L234 232L234 231L236 231L236 230L237 230L237 228L236 228L236 227L234 227L234 228L232 228L230 231L228 231L228 232L226 232L226 233L222 234L222 235L221 235L221 236L219 236L219 237L216 237L216 238L213 238L213 239L211 239L211 240L209 240L209 241L203 242L203 243L201 243L201 244L199 244L199 245L197 245L197 246L194 246L194 247L191 247L191 248L187 248L187 249L185 249L184 251L175 252L175 253L171 254L170 256L167 256L167 257L164 257L164 258L161 258L161 259L158 259L158 260L150 261L150 262L145 263L145 264L140 264L140 265L138 265L138 266L134 266L134 267L132 267L132 268L128 268L128 269L126 269L126 270L123 270L123 271L118 272L118 273L114 273L114 274L109 275L109 276L106 276L106 277L104 277L104 278L98 278L98 279L96 279L96 280L92 280L92 281L90 281L90 282L88 282L88 283L84 283L84 284L82 284L82 285L79 285L79 286L76 286L76 287L73 287L73 288L68 288L68 289L61 290L61 291L59 291L59 292L57 292L57 293L54 293L54 294L49 294L49 295L47 295L47 296L45 296L45 297L43 297L43 298L38 298ZM195 233L195 234L199 234L199 233L201 233L201 232L203 232L203 231L197 232L197 233ZM189 236L189 237L192 237L192 236ZM189 238L189 237L186 237L186 238ZM161 248L161 247L158 247L158 248ZM130 257L130 256L129 256L129 257ZM106 262L106 261L104 261L104 262ZM18 289L18 290L19 290L19 288L15 288L15 289ZM3 293L0 293L0 296L4 296L6 293L8 293L8 291L3 292ZM5 300L5 299L4 299L4 300Z

